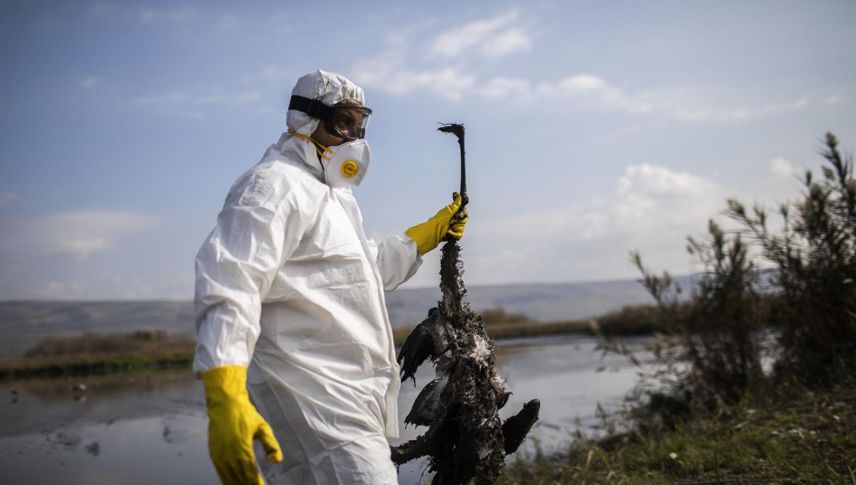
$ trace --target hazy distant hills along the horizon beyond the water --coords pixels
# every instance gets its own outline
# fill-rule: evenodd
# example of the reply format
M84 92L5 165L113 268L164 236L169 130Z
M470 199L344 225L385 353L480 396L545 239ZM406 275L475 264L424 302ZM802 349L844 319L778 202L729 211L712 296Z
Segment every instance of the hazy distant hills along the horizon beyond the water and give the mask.
M678 278L687 287L688 277ZM393 327L421 322L440 299L438 288L387 293ZM637 281L502 285L467 288L473 310L502 307L534 320L575 320L650 302ZM184 301L5 301L0 302L0 358L21 355L46 336L83 332L128 333L165 328L193 333L193 303Z

